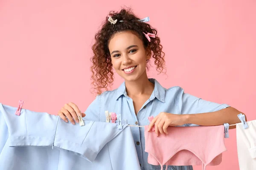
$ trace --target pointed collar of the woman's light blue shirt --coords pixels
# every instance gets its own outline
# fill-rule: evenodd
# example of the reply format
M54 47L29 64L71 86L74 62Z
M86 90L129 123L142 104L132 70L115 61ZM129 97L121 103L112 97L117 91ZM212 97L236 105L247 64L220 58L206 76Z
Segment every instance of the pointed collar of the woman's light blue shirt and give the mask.
M149 100L154 100L154 98L157 98L161 102L165 102L165 88L163 88L159 82L157 82L156 79L148 79L150 82L154 83L154 91L152 92ZM115 99L119 99L120 96L124 95L127 96L126 88L125 88L125 82L123 82L119 88L116 90L116 97Z

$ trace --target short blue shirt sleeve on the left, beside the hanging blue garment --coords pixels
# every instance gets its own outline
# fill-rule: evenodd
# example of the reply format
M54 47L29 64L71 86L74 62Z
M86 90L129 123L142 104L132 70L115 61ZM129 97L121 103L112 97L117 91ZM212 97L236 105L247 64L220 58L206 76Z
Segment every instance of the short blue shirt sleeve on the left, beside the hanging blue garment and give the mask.
M86 120L100 121L100 100L102 96L96 96L96 99L86 109L85 117Z

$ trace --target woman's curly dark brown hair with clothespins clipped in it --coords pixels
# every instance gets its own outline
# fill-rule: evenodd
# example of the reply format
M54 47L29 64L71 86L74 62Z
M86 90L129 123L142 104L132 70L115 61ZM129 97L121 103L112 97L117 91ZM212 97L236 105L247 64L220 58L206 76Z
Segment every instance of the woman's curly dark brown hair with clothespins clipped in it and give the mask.
M117 19L116 24L111 24L108 21L109 17L112 17L113 20ZM122 22L120 22L120 20L122 20ZM95 34L95 43L92 46L93 57L91 57L90 61L93 64L91 66L93 90L96 90L97 94L102 94L102 88L108 91L108 85L113 85L113 68L108 43L113 34L117 32L131 31L136 34L143 41L145 49L151 50L154 64L159 74L163 72L163 70L166 70L164 60L165 53L162 51L163 47L160 45L160 38L157 37L157 30L152 28L149 24L138 20L140 20L140 18L136 17L130 8L122 8L119 12L110 11L106 20L102 23L102 28ZM151 38L151 42L149 42L143 32L153 33L155 34L155 38ZM148 62L149 61L147 61L147 63Z

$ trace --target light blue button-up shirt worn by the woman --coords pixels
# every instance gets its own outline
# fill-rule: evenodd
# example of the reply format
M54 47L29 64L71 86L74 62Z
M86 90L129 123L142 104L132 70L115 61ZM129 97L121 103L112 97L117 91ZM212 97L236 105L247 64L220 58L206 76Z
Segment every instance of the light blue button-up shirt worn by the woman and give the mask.
M130 125L145 126L149 124L149 116L157 116L160 112L173 114L193 114L218 111L229 107L227 104L209 102L201 98L184 93L178 86L166 89L155 79L154 91L150 98L143 104L137 116L134 111L133 100L127 96L125 82L113 91L105 91L89 105L85 118L95 121L106 121L105 111L121 114L122 119L127 119ZM185 124L183 126L197 126ZM145 152L145 137L143 127L131 127L134 144L142 170L160 170L160 166L148 164L148 153ZM169 146L171 147L171 146ZM165 166L164 166L165 167ZM164 168L165 169L165 168ZM192 170L192 166L169 166L168 170Z

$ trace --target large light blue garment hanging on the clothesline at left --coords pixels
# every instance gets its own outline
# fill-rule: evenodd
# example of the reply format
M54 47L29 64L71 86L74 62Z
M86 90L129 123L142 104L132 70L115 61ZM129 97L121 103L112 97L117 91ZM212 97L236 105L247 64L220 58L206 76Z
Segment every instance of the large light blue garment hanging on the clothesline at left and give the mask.
M140 170L130 127L59 116L0 103L0 170Z

